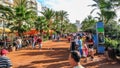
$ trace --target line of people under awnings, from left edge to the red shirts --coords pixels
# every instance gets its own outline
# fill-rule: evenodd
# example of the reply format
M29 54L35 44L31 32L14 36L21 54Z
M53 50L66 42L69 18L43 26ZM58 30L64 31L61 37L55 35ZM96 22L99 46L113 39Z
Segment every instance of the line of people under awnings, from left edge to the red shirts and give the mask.
M16 36L13 40L9 40L7 37L4 40L0 40L0 48L10 49L12 46L19 50L23 47L28 47L31 45L32 49L38 44L39 48L42 47L42 38L40 35L33 36Z

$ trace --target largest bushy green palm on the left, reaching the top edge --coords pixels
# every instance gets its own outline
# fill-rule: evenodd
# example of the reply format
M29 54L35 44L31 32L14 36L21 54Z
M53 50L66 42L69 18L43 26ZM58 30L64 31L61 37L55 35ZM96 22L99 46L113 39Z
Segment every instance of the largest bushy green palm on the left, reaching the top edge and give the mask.
M30 25L34 23L37 13L27 7L26 0L15 0L14 22L12 23L11 29L17 30L18 34L21 35L24 31L30 29Z

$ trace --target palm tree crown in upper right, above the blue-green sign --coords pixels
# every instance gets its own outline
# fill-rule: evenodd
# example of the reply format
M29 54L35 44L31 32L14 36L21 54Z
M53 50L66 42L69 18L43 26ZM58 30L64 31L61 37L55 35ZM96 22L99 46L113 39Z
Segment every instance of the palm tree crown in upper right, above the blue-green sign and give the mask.
M113 3L110 1L105 0L93 0L96 4L91 5L94 8L91 13L93 13L94 10L99 9L100 13L97 14L100 16L99 21L103 21L104 23L108 23L110 19L113 19L116 16L115 11L113 11L114 6ZM97 17L98 18L98 17Z

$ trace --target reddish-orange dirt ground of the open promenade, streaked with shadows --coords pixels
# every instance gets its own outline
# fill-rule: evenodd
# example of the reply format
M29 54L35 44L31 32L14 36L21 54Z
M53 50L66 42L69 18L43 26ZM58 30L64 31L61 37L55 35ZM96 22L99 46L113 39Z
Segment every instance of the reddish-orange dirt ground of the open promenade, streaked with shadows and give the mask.
M68 55L69 45L66 40L59 42L43 42L42 50L24 48L19 51L9 52L8 57L13 63L13 68L71 68ZM81 64L85 68L120 68L116 61L107 61L103 55L96 55L94 61Z

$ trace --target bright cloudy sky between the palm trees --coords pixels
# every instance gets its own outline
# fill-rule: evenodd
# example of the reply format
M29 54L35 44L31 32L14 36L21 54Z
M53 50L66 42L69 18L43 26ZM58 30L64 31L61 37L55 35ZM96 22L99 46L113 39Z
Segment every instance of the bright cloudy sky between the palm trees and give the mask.
M47 6L48 8L52 8L53 10L59 11L64 10L67 11L69 16L69 20L71 23L75 23L76 20L82 22L90 12L95 8L88 5L95 4L92 0L37 0L39 4L42 6ZM93 14L93 17L97 16L96 10Z

